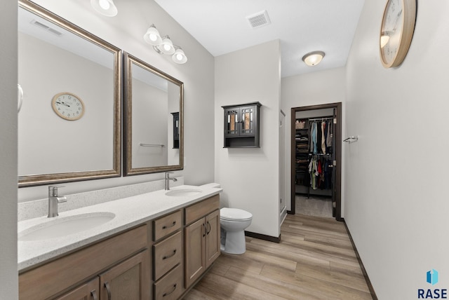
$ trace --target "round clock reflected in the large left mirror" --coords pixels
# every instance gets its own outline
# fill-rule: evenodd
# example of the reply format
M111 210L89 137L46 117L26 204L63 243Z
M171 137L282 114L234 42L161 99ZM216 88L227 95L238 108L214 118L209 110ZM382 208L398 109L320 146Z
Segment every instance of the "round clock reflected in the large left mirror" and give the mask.
M65 120L75 121L84 114L84 103L72 93L59 93L51 100L55 113Z

